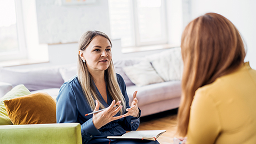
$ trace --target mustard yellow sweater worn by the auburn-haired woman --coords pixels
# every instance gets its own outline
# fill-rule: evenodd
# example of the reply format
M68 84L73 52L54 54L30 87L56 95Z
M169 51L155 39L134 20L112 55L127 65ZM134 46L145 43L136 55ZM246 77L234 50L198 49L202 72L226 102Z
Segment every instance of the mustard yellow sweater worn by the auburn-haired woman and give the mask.
M195 92L188 127L191 143L256 143L256 70L244 63Z

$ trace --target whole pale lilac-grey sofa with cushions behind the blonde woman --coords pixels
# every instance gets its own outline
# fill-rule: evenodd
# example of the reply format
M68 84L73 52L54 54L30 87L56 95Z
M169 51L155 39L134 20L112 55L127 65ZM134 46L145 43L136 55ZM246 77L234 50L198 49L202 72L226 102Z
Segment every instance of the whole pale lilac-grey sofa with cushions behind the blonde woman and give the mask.
M179 48L117 60L114 65L125 80L130 102L134 91L138 91L141 116L179 107L183 68ZM47 92L56 98L60 86L75 74L76 64L27 70L0 68L0 97L13 86L24 84L32 93Z

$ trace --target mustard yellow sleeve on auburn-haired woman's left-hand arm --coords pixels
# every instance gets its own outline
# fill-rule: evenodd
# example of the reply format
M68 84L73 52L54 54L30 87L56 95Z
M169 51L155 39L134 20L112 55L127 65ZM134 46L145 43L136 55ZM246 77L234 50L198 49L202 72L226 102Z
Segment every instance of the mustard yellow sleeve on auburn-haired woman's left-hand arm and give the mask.
M214 100L205 92L196 91L190 110L186 144L214 143L220 130L220 120Z

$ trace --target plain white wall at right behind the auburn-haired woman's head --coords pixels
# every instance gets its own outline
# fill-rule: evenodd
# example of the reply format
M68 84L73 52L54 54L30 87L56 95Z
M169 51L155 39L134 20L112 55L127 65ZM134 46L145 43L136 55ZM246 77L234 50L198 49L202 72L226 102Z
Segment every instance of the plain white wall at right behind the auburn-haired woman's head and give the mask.
M194 19L208 12L215 12L228 18L247 44L245 61L250 61L250 66L256 69L255 7L255 0L191 0L191 17Z

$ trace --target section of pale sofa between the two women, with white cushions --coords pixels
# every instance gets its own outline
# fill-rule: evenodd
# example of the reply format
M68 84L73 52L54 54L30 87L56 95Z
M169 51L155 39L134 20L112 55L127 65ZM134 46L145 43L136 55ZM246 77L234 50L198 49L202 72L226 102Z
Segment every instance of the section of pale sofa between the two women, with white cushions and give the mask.
M125 80L130 103L134 91L138 91L141 116L179 107L183 70L180 48L142 58L117 60L114 66L116 73Z

